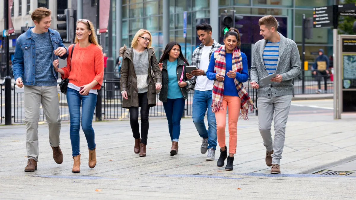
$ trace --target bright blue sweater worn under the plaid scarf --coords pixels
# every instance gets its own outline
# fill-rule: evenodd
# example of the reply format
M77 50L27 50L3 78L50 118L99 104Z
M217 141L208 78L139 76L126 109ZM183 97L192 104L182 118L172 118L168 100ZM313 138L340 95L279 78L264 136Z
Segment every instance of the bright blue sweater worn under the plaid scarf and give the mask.
M236 72L236 79L240 81L241 83L244 83L248 79L248 66L247 66L247 57L245 53L241 52L241 57L242 57L242 72ZM232 53L226 53L225 57L226 61L226 72L229 72L232 70ZM214 53L211 55L210 58L210 63L209 63L209 68L208 71L206 71L206 77L208 77L209 80L216 80L215 75L215 59L214 59ZM234 83L234 78L229 78L225 74L225 79L224 79L224 95L227 96L239 96L237 93L237 89Z

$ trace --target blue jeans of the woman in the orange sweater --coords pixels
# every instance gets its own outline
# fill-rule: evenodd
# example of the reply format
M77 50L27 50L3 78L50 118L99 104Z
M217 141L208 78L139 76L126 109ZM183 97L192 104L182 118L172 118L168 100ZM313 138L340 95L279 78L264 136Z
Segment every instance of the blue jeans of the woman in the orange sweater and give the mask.
M67 103L70 115L70 142L72 143L72 156L79 155L79 130L80 130L80 104L82 104L82 130L87 139L88 148L95 148L93 122L96 105L96 94L89 93L87 96L79 94L72 88L67 89Z

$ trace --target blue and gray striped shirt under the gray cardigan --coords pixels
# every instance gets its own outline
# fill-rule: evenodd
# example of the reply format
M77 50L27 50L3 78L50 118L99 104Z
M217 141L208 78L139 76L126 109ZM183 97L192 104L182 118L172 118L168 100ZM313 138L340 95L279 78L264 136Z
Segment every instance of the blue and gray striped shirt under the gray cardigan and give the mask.
M277 61L278 61L278 50L279 50L279 42L267 42L265 49L263 50L263 63L265 63L265 67L267 69L268 74L273 74L277 69Z

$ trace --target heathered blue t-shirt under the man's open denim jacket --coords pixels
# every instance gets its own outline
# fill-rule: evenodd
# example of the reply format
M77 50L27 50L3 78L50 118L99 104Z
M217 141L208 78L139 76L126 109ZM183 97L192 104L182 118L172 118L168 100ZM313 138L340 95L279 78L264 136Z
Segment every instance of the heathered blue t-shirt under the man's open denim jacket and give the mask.
M36 86L56 86L57 79L53 74L52 55L53 45L49 32L34 33L31 30L32 40L36 43Z

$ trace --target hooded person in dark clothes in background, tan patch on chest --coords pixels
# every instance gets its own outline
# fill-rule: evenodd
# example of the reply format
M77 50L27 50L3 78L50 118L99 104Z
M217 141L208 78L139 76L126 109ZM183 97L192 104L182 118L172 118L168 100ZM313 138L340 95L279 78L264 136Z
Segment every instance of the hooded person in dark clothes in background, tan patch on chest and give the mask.
M316 57L313 64L313 75L318 80L318 90L316 93L321 93L321 78L324 78L324 93L328 92L328 78L329 78L329 58L324 54L324 49L319 49L319 56Z

